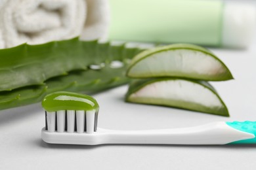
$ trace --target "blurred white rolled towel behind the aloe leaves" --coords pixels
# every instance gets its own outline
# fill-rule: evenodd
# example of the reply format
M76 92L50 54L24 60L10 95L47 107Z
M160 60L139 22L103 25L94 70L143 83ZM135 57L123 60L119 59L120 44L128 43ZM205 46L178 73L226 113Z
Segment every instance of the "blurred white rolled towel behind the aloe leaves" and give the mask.
M0 0L0 48L76 36L104 39L109 15L106 0Z

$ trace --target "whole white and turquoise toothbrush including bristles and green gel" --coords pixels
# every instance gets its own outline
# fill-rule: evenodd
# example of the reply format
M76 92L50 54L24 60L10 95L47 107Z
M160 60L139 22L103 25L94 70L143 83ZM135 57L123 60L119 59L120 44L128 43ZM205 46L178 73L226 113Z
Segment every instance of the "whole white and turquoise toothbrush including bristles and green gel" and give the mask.
M41 137L56 144L252 144L256 122L213 122L177 129L118 131L97 128L98 103L89 95L55 92L42 102Z

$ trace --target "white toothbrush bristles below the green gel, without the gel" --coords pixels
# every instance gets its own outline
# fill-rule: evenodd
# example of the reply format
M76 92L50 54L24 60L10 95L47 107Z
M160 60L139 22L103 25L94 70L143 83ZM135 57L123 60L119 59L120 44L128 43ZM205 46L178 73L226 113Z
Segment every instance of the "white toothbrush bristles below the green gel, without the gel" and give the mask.
M97 129L98 111L58 110L45 111L45 130L58 133L93 133Z

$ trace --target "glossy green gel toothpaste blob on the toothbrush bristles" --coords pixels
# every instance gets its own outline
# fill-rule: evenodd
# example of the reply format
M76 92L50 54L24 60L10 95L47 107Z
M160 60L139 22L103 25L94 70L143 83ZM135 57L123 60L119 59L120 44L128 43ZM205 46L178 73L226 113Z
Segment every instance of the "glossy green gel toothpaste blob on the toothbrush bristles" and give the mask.
M54 92L46 95L42 106L47 112L57 110L99 110L96 99L89 95L72 92Z

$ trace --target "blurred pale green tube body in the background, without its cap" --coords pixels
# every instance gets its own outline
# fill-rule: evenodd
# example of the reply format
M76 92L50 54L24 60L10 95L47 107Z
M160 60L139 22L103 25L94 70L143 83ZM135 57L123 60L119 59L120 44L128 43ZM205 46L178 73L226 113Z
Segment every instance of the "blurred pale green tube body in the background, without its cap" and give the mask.
M110 0L109 39L221 46L223 2Z

